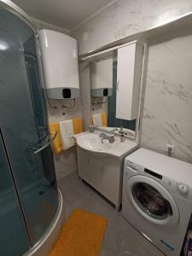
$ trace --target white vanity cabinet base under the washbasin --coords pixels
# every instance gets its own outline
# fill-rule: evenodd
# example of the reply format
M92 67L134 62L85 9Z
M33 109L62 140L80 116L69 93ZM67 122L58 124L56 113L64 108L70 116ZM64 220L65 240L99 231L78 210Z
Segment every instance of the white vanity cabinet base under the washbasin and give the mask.
M111 201L121 204L123 162L110 156L96 156L78 147L79 177Z

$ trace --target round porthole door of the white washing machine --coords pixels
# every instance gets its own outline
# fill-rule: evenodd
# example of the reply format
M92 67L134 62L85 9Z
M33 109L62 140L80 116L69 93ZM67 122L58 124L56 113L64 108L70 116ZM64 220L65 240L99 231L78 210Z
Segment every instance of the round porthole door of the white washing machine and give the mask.
M126 192L137 212L150 222L167 226L177 224L177 204L172 195L154 179L133 176L126 183Z

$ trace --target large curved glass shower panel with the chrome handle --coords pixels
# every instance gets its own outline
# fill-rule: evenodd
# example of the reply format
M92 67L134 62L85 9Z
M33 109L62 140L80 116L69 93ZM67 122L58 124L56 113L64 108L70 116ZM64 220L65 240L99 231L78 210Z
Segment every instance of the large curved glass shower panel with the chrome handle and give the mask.
M6 28L6 29L5 29ZM11 172L32 245L48 230L58 208L35 34L0 9L0 124Z

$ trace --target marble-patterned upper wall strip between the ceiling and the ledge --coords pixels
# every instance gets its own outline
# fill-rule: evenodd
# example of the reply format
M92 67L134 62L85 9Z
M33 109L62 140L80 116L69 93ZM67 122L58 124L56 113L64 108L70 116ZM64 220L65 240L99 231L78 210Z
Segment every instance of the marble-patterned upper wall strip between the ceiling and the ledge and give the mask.
M190 0L119 0L71 32L79 55L192 11Z

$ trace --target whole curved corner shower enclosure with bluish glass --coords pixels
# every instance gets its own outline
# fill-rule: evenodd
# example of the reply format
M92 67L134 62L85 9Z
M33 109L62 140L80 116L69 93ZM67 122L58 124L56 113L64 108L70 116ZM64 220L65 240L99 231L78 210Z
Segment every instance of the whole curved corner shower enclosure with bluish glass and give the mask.
M37 33L5 3L0 1L0 254L21 256L48 232L60 196Z

